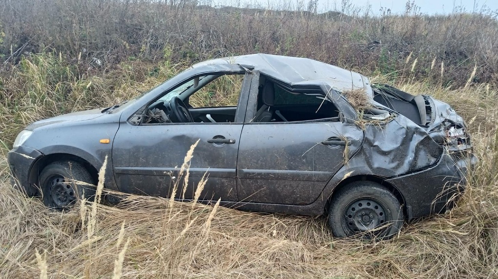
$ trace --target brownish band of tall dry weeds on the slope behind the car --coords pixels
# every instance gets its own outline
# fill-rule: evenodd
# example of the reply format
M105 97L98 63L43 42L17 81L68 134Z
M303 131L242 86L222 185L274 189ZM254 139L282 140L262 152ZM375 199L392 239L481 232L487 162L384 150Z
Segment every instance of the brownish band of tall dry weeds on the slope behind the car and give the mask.
M498 81L497 11L485 7L424 15L407 1L403 14L378 15L351 0L328 11L315 0L224 2L237 8L193 0L0 1L0 69L53 50L101 71L124 61L262 52L418 78L435 62L444 74L429 77L458 85L477 65L474 82ZM417 68L404 65L410 54Z

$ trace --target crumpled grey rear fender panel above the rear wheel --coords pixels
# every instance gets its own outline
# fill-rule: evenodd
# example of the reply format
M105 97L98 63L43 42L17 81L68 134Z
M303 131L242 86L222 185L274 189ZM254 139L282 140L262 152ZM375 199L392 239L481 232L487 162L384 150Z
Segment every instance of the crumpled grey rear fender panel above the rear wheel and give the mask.
M461 181L461 176L455 169L443 167L452 162L444 147L437 144L424 129L412 121L394 114L384 123L364 124L365 138L362 147L329 181L323 191L323 202L328 200L328 195L333 195L334 189L345 179L370 176L394 187L403 200L408 197L408 215L413 217L431 211L425 202L430 204L448 184L445 176L452 175L454 179L451 182ZM440 167L436 170L425 172L438 165ZM416 176L412 176L413 174ZM429 177L420 181L423 185L414 180L414 177L420 179L424 175ZM433 178L433 175L440 175L441 178ZM398 177L400 179L396 179ZM430 194L433 197L417 196L416 193ZM416 206L417 201L424 202L421 208ZM412 209L416 212L412 212Z

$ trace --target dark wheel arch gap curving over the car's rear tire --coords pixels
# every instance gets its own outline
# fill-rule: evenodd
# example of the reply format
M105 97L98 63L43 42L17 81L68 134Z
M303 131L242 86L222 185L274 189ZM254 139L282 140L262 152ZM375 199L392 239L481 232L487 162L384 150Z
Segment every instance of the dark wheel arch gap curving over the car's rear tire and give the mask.
M406 216L407 219L411 219L411 214L412 214L411 210L406 205L406 201L405 201L403 195L401 194L401 192L394 185L385 181L385 179L383 179L382 177L378 177L375 175L368 175L368 174L355 175L355 176L351 176L351 177L348 177L346 179L343 179L330 193L330 195L327 199L327 202L325 203L324 212L326 214L328 214L331 200L340 189L346 187L348 184L350 184L352 182L357 182L357 181L375 182L375 183L378 183L379 185L381 185L382 187L384 187L385 189L387 189L388 191L390 191L392 194L394 194L394 196L396 197L398 202L402 205L404 216Z

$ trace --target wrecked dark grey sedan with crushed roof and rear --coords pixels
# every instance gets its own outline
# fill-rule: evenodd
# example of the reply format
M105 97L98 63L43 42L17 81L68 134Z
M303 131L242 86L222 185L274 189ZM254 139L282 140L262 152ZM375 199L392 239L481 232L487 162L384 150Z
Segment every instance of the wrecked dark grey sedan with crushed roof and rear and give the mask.
M198 141L188 183L179 166ZM305 58L254 54L196 64L141 96L26 127L12 183L46 206L124 193L325 215L336 237L389 238L454 206L476 163L448 104ZM76 181L82 181L78 183Z

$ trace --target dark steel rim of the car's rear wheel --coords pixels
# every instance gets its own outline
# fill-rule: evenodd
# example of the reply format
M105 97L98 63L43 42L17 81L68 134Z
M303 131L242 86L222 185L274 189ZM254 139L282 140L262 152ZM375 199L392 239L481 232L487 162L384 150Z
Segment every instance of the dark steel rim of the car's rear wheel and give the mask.
M356 234L374 229L386 218L385 209L380 204L365 199L355 201L346 208L343 224L352 234Z

